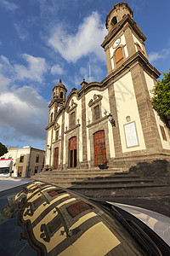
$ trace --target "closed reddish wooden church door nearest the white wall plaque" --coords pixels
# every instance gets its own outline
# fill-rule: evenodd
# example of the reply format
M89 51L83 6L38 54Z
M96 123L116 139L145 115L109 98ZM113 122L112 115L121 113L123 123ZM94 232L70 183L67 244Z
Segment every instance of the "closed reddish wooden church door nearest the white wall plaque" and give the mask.
M106 149L105 149L105 131L97 131L94 133L94 160L95 166L101 164L99 158L106 158Z

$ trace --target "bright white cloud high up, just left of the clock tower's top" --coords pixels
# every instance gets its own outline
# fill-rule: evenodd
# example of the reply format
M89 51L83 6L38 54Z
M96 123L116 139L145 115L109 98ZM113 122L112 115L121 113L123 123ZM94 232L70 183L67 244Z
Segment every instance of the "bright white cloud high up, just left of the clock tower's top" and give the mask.
M68 62L76 62L82 56L94 53L104 60L104 50L99 46L105 38L105 25L101 23L99 14L93 12L78 27L77 33L71 34L64 26L56 26L51 32L48 44L62 55Z

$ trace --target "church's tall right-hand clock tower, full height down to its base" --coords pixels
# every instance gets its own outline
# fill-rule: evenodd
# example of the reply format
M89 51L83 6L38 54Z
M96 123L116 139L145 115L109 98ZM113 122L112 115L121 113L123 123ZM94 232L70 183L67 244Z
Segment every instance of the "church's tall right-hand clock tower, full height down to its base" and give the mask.
M144 155L169 154L169 131L150 102L150 90L160 73L148 60L146 37L133 20L133 10L125 2L116 3L105 26L108 35L101 46L105 49L111 114L116 119L116 157L143 160Z

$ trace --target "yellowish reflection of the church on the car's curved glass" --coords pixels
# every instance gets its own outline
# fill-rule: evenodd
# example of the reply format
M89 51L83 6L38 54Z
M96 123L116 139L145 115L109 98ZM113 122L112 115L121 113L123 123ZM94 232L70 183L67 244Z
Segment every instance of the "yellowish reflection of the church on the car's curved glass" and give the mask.
M24 187L9 199L1 216L13 218L17 212L18 225L25 230L20 239L38 255L106 255L113 250L111 255L122 255L124 247L128 255L144 255L128 236L123 239L122 228L99 207L48 183L34 181Z

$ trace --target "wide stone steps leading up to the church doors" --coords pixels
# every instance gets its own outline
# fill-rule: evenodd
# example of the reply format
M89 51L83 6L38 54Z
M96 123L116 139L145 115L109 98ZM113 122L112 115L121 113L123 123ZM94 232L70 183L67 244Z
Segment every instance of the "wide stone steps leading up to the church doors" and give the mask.
M99 168L86 170L48 171L36 173L33 179L71 189L82 195L96 197L103 191L116 191L120 189L140 189L165 186L154 183L151 178L142 178L139 175L120 172L116 168L99 170ZM114 193L114 192L113 192Z

